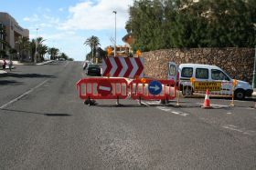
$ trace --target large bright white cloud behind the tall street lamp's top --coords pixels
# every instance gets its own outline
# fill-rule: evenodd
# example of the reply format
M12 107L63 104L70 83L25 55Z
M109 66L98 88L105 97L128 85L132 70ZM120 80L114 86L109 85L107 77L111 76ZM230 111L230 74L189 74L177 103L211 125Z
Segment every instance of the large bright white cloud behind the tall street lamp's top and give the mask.
M123 29L129 19L128 8L133 0L88 0L69 7L69 19L59 26L62 30L104 30L113 29L114 14L117 11L116 26Z

